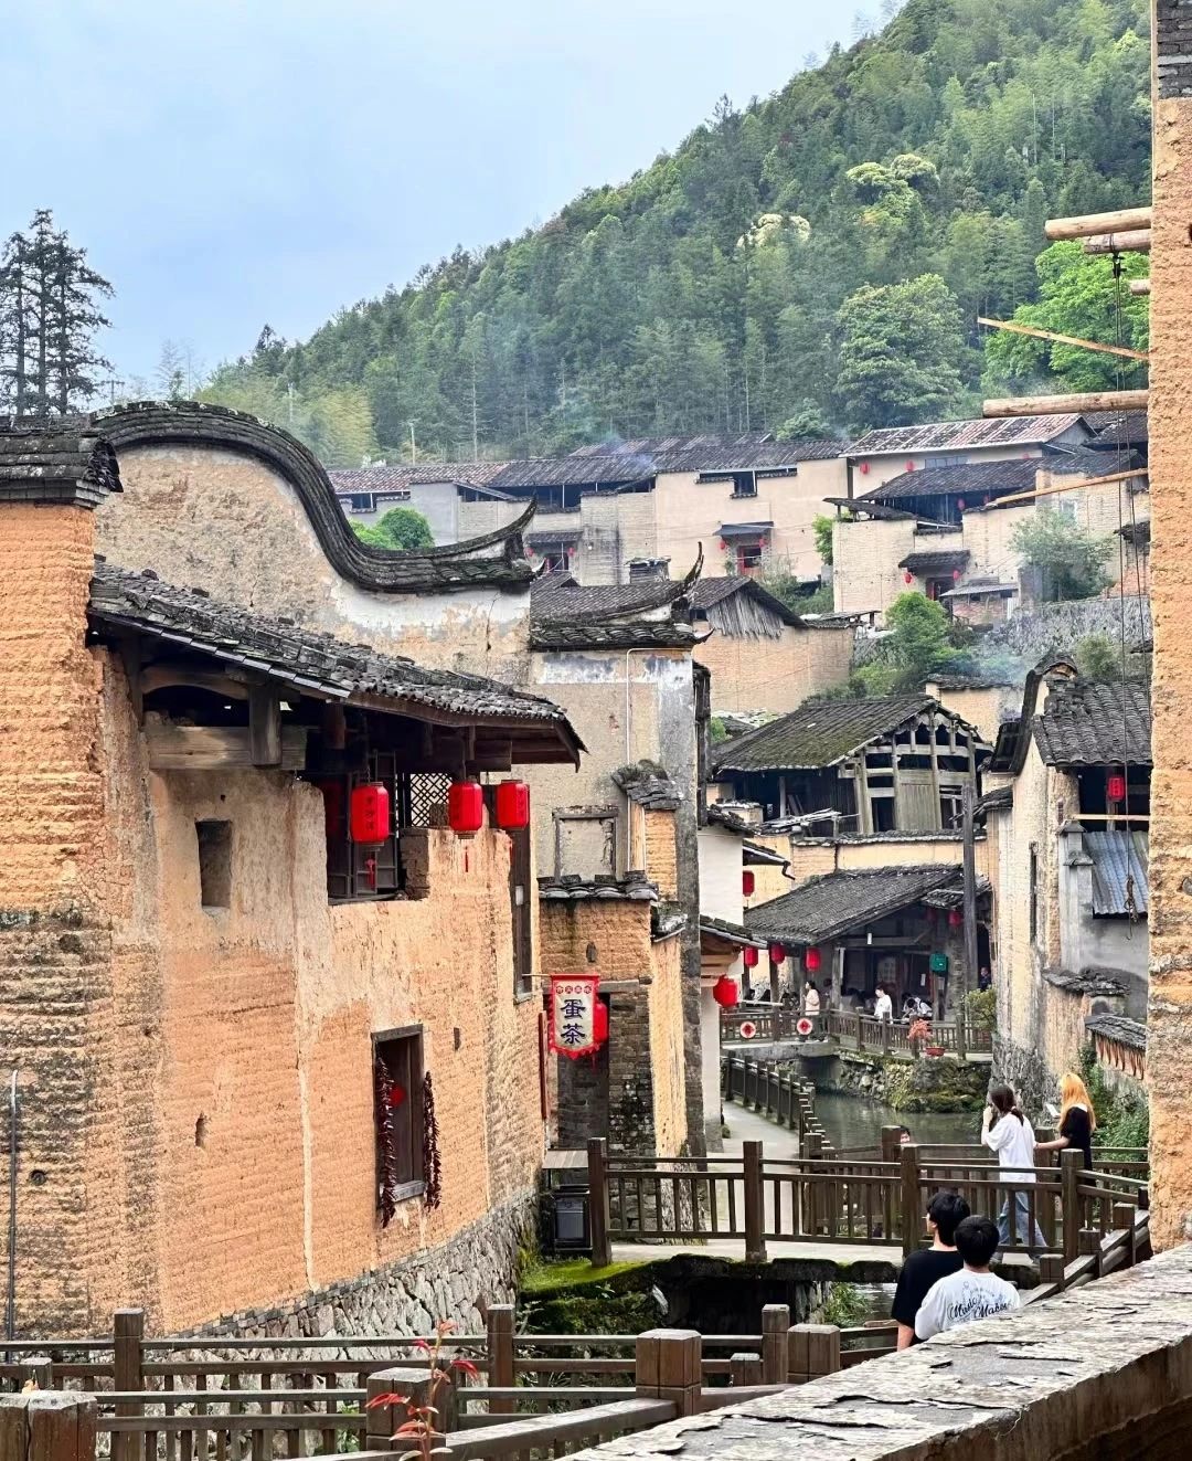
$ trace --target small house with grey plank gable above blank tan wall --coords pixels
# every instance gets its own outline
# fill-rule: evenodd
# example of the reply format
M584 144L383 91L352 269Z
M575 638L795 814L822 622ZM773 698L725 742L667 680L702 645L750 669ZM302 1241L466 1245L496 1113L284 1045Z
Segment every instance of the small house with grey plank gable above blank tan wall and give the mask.
M711 630L695 657L711 672L716 714L782 714L849 679L855 630L847 621L802 618L745 574L701 577L689 600L695 627Z

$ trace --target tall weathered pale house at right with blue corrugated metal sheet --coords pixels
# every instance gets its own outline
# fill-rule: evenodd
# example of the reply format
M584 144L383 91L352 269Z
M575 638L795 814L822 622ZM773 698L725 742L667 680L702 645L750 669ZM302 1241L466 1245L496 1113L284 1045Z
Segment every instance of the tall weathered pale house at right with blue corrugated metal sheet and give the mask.
M1018 716L1002 726L989 773L998 785L980 809L995 888L1002 1067L1050 1096L1107 1018L1100 1053L1110 1068L1141 1074L1150 687L1085 681L1071 660L1044 660L1027 676Z

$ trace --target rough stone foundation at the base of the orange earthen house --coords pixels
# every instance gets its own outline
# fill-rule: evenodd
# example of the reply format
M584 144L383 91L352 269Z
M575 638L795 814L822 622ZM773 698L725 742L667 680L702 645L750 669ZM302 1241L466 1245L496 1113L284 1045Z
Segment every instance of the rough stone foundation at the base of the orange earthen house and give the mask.
M519 1254L535 1246L536 1207L535 1195L526 1194L440 1248L276 1309L244 1309L196 1332L250 1340L425 1335L440 1319L450 1319L460 1334L484 1334L488 1308L517 1297Z

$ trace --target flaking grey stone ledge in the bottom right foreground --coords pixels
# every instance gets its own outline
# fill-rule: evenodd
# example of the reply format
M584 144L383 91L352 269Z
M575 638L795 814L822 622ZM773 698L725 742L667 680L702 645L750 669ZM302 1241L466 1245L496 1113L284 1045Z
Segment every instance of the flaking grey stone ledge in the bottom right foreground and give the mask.
M1183 1245L1018 1313L577 1461L1176 1455L1185 1452L1164 1445L1180 1446L1189 1414L1192 1245Z

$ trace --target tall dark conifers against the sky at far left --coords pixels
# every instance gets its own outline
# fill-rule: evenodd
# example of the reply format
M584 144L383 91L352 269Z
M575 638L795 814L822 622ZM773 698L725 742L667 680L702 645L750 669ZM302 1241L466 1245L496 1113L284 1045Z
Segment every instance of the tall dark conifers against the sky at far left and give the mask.
M99 301L112 288L86 262L54 215L39 209L0 256L0 383L18 418L66 415L99 390L111 362L95 349L110 321Z

